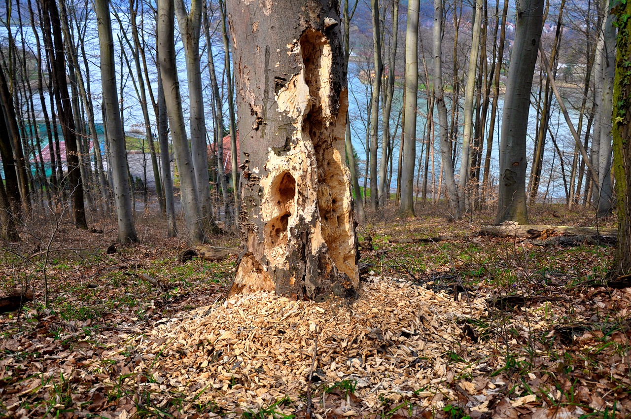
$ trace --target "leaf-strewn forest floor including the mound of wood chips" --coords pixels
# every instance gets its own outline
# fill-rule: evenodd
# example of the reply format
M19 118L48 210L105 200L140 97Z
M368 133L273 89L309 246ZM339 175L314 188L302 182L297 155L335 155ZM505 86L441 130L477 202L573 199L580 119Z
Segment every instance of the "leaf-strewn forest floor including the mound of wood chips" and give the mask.
M110 221L31 220L1 249L0 295L28 284L35 299L0 315L0 416L631 417L631 288L602 285L613 247L479 235L485 214L392 213L358 227L359 297L322 303L227 299L237 257L180 263L186 243L155 216L115 252Z

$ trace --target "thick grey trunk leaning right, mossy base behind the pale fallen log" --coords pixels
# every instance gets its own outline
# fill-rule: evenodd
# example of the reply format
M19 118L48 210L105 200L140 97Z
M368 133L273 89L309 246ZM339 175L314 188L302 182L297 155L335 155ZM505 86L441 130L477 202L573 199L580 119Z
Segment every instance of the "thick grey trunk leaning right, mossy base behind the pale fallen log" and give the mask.
M500 194L495 218L498 224L506 220L528 223L526 133L542 20L543 0L525 0L519 4L502 114Z

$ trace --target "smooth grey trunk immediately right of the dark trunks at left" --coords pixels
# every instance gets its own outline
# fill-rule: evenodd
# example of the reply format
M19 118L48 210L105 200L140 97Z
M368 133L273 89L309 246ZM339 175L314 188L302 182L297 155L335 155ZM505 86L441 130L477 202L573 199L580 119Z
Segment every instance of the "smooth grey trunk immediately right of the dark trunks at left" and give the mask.
M118 112L118 95L116 92L116 74L114 64L114 37L112 37L112 21L108 0L96 0L95 9L98 21L98 40L101 53L101 83L103 86L103 103L107 119L107 133L110 138L110 162L112 163L112 184L116 202L118 219L118 239L121 243L138 242L134 216L131 211L131 193L127 177L127 153L125 150L125 134L122 129L121 114Z

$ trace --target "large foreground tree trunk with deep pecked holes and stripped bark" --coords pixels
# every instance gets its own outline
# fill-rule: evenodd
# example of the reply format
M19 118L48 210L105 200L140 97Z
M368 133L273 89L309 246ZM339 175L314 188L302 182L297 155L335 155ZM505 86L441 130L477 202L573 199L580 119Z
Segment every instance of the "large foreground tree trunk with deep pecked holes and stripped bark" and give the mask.
M230 293L323 300L358 287L339 5L228 2L242 141L240 234Z

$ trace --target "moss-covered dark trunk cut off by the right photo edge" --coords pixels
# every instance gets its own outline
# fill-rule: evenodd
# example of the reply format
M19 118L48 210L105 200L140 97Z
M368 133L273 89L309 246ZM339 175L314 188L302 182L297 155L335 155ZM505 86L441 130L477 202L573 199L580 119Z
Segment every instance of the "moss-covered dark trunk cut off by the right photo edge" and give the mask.
M618 242L609 276L631 272L631 1L613 9L618 27L613 81L613 172L618 194Z

